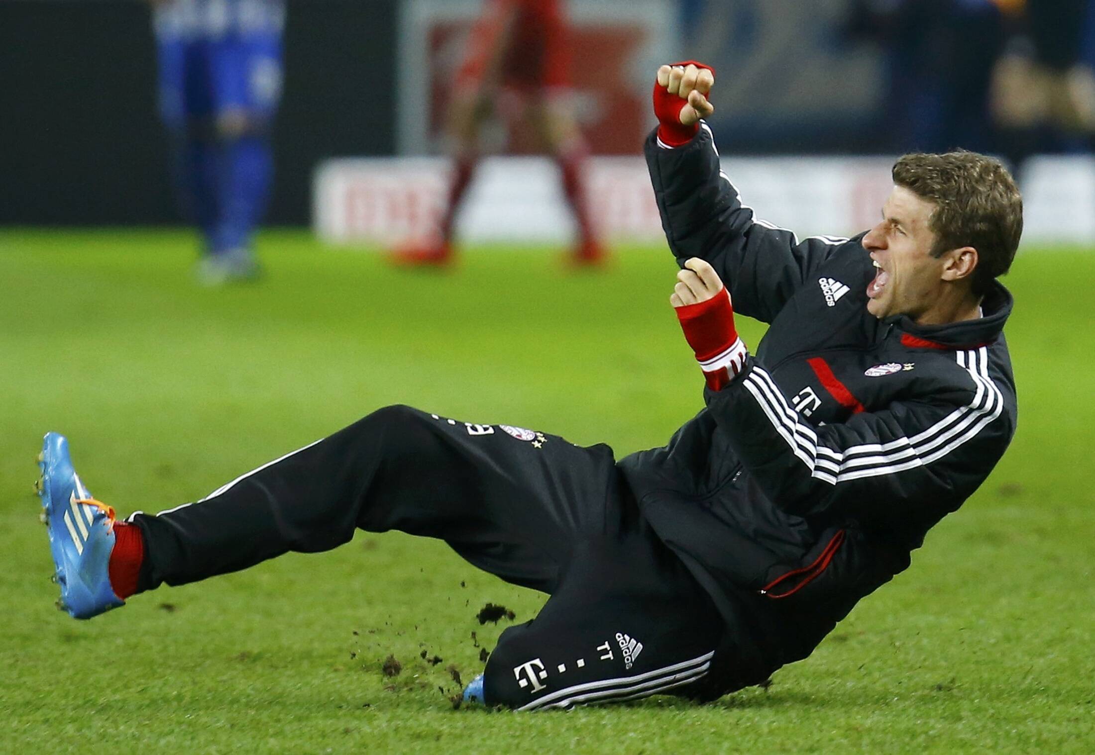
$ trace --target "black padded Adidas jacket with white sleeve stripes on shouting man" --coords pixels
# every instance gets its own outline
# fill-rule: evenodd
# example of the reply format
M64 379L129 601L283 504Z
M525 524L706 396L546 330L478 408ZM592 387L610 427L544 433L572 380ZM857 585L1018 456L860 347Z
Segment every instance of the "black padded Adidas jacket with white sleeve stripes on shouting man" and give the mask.
M678 263L706 259L734 309L770 324L667 446L620 462L739 635L728 657L756 661L733 688L808 655L995 466L1016 423L1012 297L994 282L976 321L877 320L862 236L799 241L758 220L705 125L678 149L652 133L645 151Z

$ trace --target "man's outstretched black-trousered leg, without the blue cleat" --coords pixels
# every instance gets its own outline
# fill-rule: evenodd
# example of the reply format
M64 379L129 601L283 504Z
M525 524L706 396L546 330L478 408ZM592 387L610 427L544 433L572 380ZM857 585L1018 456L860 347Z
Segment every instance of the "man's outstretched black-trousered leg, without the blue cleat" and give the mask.
M576 538L603 532L618 477L607 446L387 407L208 498L136 513L138 591L327 550L356 528L447 541L475 566L551 591Z

